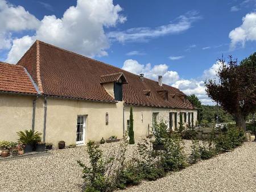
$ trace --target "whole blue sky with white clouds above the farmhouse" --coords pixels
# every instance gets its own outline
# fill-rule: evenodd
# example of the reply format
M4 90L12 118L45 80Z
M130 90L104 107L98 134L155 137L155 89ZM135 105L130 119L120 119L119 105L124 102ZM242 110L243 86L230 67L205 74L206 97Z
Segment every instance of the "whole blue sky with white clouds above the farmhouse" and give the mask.
M196 94L217 59L256 51L256 0L0 0L0 61L42 40Z

